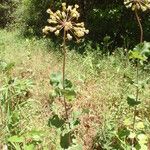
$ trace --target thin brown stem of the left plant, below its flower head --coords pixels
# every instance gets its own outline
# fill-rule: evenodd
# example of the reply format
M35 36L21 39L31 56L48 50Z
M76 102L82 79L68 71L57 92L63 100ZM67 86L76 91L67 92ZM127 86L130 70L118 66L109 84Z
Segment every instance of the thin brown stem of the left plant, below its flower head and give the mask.
M66 31L64 30L64 36L63 36L63 68L62 68L62 76L63 76L63 90L65 90L65 69L66 69ZM67 112L67 103L65 95L63 96L64 100L64 107L65 107L65 119L68 120L68 112Z

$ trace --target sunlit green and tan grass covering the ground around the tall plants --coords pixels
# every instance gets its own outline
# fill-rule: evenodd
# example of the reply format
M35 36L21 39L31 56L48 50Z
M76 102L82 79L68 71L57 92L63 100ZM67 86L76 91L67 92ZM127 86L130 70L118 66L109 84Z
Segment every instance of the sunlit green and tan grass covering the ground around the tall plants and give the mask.
M0 30L0 60L7 63L14 62L11 76L31 79L34 84L30 91L30 102L21 108L20 134L31 130L43 131L42 143L37 149L42 147L57 149L59 138L55 135L55 131L48 127L48 119L51 116L49 76L50 73L62 69L61 51L58 51L58 48L55 51L54 44L48 39L25 39L17 32ZM75 50L68 50L66 74L78 91L77 99L72 103L73 109L85 108L90 112L80 117L78 134L78 140L86 150L92 149L96 135L98 136L96 143L101 145L109 143L111 138L108 135L113 133L108 126L112 124L111 127L117 129L124 119L131 115L126 97L135 90L132 86L128 86L124 75L134 77L135 68L126 60L122 49L116 50L111 56L103 57L97 52L91 52L90 49L83 55L76 53ZM148 76L148 72L141 70L141 79ZM4 83L4 77L6 74L1 72L0 88ZM139 114L142 114L143 120L147 117L147 121L150 121L149 89L150 86L147 86L140 92L142 105L139 107ZM60 110L58 108L58 111L61 111L61 108ZM2 120L0 120L0 143L5 143L7 131L1 123ZM149 123L148 126L150 127ZM150 131L149 127L147 132ZM101 132L105 135L100 135ZM106 139L100 143L103 137Z

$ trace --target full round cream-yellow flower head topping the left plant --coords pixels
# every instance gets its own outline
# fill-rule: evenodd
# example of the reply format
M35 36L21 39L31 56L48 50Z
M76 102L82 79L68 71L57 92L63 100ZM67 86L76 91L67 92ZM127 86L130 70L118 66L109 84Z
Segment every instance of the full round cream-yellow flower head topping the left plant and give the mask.
M72 40L73 36L78 40L85 34L88 34L89 30L85 29L84 22L77 23L80 17L80 13L77 11L78 8L77 4L67 7L66 3L62 3L62 11L57 10L53 12L51 9L48 9L47 13L50 15L50 18L47 21L50 25L45 26L43 32L45 34L54 32L56 36L59 36L61 30L64 30L68 40Z

